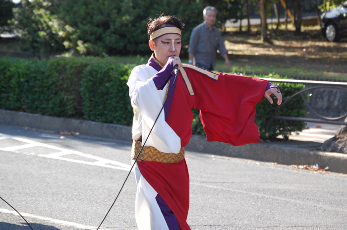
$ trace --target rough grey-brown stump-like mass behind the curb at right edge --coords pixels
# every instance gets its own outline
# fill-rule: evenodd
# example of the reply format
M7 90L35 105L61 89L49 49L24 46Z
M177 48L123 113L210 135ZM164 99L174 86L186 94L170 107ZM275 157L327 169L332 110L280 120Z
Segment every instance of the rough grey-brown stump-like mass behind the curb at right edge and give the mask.
M345 122L347 122L347 117ZM347 125L342 125L333 138L326 140L321 146L321 150L326 152L347 153Z

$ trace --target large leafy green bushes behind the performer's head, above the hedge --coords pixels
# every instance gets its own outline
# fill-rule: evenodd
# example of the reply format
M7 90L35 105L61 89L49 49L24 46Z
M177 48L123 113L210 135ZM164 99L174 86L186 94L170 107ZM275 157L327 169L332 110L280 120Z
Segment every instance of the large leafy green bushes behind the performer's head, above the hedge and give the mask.
M23 0L12 25L25 51L49 56L61 52L109 56L149 54L146 24L160 14L186 24L183 54L190 31L202 22L204 2L186 0Z

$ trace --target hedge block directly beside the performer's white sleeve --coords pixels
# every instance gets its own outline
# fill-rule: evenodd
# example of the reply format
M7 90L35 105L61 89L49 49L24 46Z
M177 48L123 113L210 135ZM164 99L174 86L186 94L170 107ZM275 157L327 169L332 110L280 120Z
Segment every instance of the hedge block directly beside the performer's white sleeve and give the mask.
M134 65L89 65L82 79L84 118L99 122L131 125L132 107L126 82Z

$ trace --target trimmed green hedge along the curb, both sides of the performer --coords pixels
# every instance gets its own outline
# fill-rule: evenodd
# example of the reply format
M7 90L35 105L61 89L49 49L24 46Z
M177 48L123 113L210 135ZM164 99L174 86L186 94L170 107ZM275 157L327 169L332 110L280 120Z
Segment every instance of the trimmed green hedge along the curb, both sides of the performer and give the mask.
M134 66L115 58L0 58L0 109L131 125L126 82ZM281 88L283 101L304 88L300 84L274 84ZM263 139L280 134L288 138L290 132L305 127L304 122L271 119L276 102L271 105L264 99L256 106L255 122ZM204 134L198 111L193 112L193 133ZM277 115L305 117L303 100L294 98Z

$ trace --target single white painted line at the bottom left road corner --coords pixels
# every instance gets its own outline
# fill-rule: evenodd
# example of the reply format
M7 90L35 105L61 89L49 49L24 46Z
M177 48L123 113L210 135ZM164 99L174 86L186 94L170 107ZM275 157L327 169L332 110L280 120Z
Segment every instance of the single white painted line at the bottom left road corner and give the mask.
M0 208L0 213L6 213L6 214L12 214L12 215L19 216L18 213L15 211L7 210L7 209L1 209L1 208ZM53 219L53 218L49 218L49 217L36 216L33 214L29 214L29 213L21 213L20 212L20 215L22 215L24 218L30 218L30 219L36 219L39 221L45 221L48 223L58 224L60 226L70 226L70 227L74 227L76 229L96 230L98 228L95 226L81 225L81 224L77 224L77 223L73 223L73 222L69 222L69 221L57 220L57 219ZM29 222L29 224L30 224L30 222ZM99 230L112 230L112 229L100 228Z

